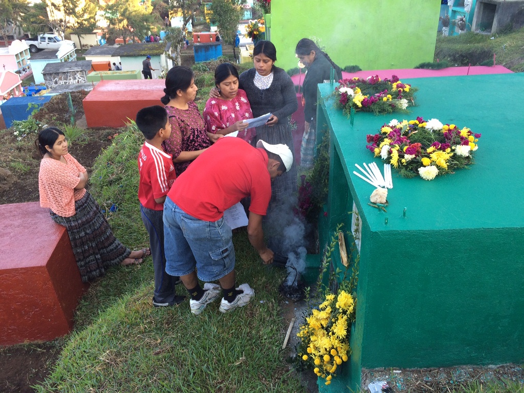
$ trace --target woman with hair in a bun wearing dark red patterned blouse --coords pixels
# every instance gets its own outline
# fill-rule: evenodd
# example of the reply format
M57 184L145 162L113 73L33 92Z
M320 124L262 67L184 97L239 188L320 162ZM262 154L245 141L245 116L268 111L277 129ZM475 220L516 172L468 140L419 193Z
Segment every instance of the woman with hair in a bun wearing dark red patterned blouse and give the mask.
M194 103L198 88L191 69L177 65L166 76L165 96L161 98L171 124L171 136L163 141L164 150L173 155L174 170L180 176L189 164L223 135L208 133L204 119Z

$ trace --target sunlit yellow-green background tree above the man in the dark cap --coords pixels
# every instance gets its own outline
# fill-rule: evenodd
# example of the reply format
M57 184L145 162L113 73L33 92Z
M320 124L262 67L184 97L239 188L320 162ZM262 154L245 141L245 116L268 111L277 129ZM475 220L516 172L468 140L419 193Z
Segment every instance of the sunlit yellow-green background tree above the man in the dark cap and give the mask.
M150 0L143 4L136 0L113 0L106 4L104 15L109 26L107 39L114 41L122 37L126 42L128 38L144 37L154 21L151 10Z

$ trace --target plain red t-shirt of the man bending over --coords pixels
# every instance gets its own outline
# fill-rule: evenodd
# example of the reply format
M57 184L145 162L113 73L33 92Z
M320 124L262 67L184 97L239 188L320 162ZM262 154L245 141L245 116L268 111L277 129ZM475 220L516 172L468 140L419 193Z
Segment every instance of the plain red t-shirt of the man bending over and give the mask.
M220 220L224 210L249 195L249 211L265 215L271 199L267 164L264 149L241 138L220 138L180 174L168 196L203 221Z

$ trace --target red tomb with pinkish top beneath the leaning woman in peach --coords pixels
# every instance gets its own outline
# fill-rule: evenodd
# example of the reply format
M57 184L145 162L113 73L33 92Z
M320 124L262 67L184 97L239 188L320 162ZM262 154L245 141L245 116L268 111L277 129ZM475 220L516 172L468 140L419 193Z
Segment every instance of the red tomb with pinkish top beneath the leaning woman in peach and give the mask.
M0 345L70 332L82 283L69 235L38 202L0 205Z

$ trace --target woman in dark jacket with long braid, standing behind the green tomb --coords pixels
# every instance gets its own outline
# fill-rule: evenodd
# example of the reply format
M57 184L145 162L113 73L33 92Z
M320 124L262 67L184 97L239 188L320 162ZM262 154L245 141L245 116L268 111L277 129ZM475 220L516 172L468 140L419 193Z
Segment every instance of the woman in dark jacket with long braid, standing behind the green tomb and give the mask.
M300 61L308 67L302 84L304 97L304 136L300 146L300 165L305 168L313 166L313 158L316 144L316 88L319 83L329 80L331 69L335 70L335 80L342 79L342 70L323 52L316 44L308 39L302 38L297 43L295 53Z

